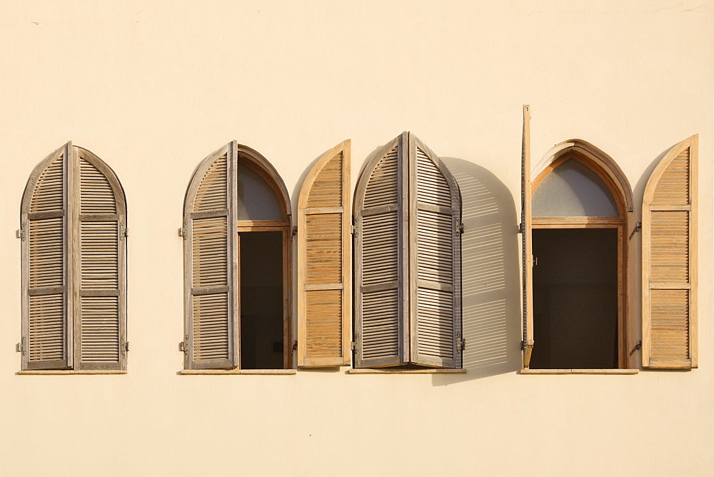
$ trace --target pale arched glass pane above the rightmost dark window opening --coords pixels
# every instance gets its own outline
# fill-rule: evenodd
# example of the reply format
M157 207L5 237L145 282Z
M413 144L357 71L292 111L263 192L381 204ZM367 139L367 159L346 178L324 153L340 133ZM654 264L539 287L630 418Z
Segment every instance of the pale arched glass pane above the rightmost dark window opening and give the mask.
M534 217L619 216L610 188L580 161L568 159L545 176L533 193Z

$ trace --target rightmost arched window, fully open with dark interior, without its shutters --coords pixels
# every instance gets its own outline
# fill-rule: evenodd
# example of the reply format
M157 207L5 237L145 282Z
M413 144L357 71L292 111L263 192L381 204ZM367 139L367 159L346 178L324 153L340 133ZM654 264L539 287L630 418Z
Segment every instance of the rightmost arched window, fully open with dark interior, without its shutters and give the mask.
M533 349L524 366L627 368L628 181L606 154L578 140L556 146L533 176L524 238L532 246L524 298L532 300Z

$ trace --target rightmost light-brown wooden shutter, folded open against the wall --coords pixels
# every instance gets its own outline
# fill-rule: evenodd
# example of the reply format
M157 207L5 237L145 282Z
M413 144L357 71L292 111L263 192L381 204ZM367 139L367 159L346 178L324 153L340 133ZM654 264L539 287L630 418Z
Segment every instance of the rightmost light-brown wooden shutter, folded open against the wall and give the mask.
M698 136L655 168L642 205L645 368L697 367Z

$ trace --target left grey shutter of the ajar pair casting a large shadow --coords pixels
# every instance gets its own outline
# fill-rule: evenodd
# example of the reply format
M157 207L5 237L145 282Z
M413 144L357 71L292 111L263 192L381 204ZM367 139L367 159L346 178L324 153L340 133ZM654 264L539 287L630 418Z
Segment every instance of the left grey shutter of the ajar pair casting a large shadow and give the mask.
M405 283L406 171L404 133L377 151L356 191L355 365L358 368L406 363L408 312Z

